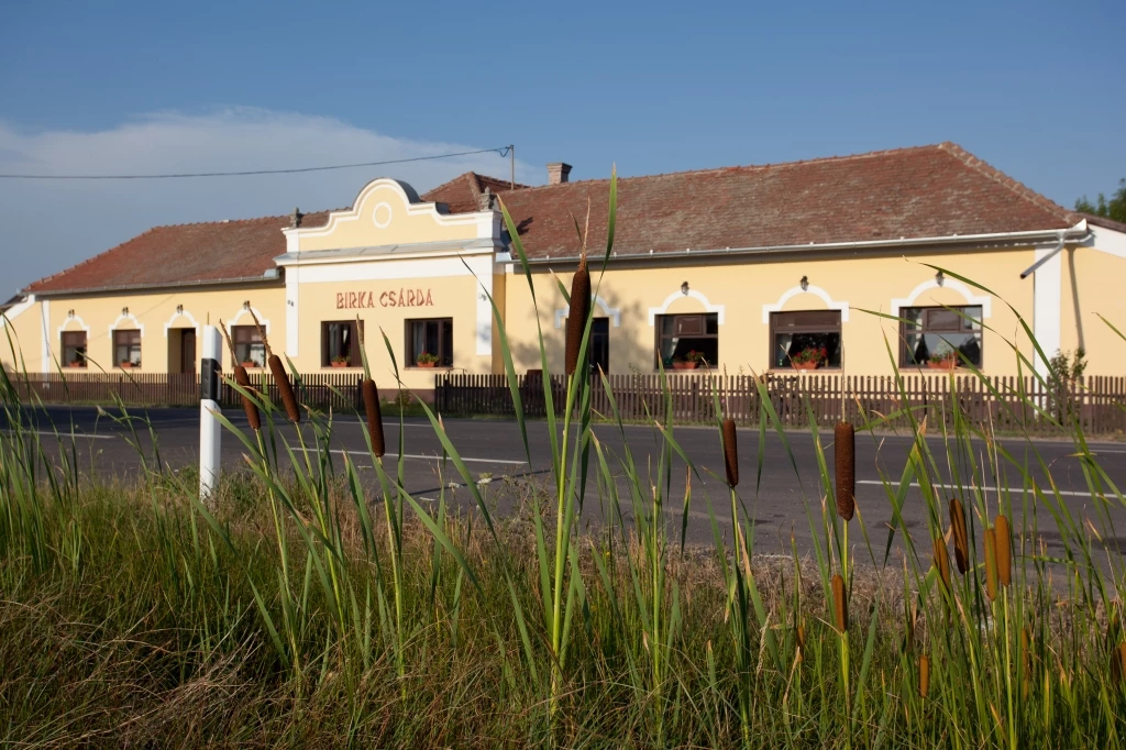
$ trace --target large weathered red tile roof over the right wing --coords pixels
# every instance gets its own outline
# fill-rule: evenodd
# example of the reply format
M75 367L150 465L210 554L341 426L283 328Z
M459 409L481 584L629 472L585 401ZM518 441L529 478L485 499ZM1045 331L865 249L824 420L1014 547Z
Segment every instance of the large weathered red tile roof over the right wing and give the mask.
M609 180L502 191L530 257L573 257L590 202L605 244ZM953 143L618 180L620 255L1065 229L1078 214Z

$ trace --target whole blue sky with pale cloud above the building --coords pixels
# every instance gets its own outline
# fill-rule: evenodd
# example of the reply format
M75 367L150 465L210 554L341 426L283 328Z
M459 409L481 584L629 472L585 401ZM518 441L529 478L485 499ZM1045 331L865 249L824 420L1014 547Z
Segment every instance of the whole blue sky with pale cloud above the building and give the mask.
M516 143L518 178L540 182L556 160L587 179L955 141L1067 206L1126 177L1120 0L759 6L18 3L0 26L0 172ZM153 224L342 206L385 172L426 189L467 168L507 161L0 180L0 297Z

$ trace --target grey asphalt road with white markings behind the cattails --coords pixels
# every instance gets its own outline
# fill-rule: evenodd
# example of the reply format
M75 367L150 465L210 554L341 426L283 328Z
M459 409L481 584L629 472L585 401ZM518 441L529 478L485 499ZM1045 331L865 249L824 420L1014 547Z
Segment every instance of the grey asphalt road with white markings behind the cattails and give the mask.
M151 423L158 437L160 458L164 464L178 468L198 461L198 410L153 409L136 413L143 414ZM248 429L241 410L229 410L227 416L238 427ZM71 431L71 425L73 425L74 444L81 456L81 465L89 466L86 471L117 476L127 476L137 472L140 457L137 450L127 440L129 438L128 431L104 413L99 416L97 409L55 407L50 408L46 413L42 413L39 420L39 429L48 443L53 441L50 432L52 422L66 434ZM510 510L518 495L528 492L529 484L547 482L551 444L545 422L528 423L530 466L526 461L524 443L516 422L450 419L446 420L445 425L467 468L473 472L474 479L488 477L491 480L485 485L485 491L490 505L495 503L498 512ZM332 436L333 459L342 461L341 454L348 452L355 463L360 466L365 481L370 482L374 486L376 483L375 473L366 450L363 430L363 426L354 418L338 419ZM142 445L151 454L148 427L141 426L138 432ZM286 426L282 432L293 444L296 444L296 435L292 427ZM625 441L615 426L596 426L595 434L611 456L622 456L624 444L627 443L642 473L647 475L651 466L655 473L662 440L655 429L644 426L626 427ZM723 456L716 431L706 428L678 427L674 430L674 436L701 475L701 480L692 480L687 526L688 541L690 543L711 542L713 532L712 516L707 509L708 501L715 508L715 517L720 523L721 530L724 536L730 538L730 499L726 485L722 480L709 474L709 472L716 472L721 476L723 475ZM813 438L807 431L789 432L787 435L789 449L787 450L776 434L768 432L762 445L762 473L761 477L757 477L758 437L757 430L739 431L741 475L739 497L747 512L756 521L756 547L760 552L788 551L793 533L798 550L803 553L808 552L811 550L811 530L806 509L812 505L816 517L820 518L816 508L822 497ZM394 452L399 440L396 420L386 420L386 439L391 453L385 461L394 461ZM823 434L821 439L825 448L825 461L831 468L833 462L832 432ZM462 482L462 477L452 465L448 465L445 473L439 476L440 443L428 421L409 419L403 425L403 444L405 486L412 495L432 500L443 484ZM1112 501L1110 510L1112 528L1105 529L1096 514L1096 503L1088 492L1080 462L1071 455L1073 453L1071 444L1053 441L1029 444L1018 439L1003 440L1002 444L1020 465L1030 467L1028 471L1036 476L1038 482L1046 485L1048 477L1040 466L1040 462L1043 462L1047 474L1051 475L1051 481L1060 488L1071 511L1076 517L1084 515L1091 517L1106 543L1126 551L1126 510ZM893 482L899 482L910 447L911 439L908 437L874 437L867 434L857 436L857 505L877 557L883 556L887 542L887 524L892 520L892 503L884 486L884 479L891 477ZM947 491L950 494L956 493L953 486L956 472L947 464L946 449L940 439L931 439L931 450L939 459L944 476L942 482L951 485ZM988 462L988 458L982 455L984 446L977 445L975 450L978 454L978 464ZM1126 444L1096 444L1092 445L1092 450L1097 453L1100 465L1111 481L1118 488L1126 489ZM242 444L233 435L225 434L222 450L224 468L235 470L243 466L242 454ZM790 455L793 455L793 463ZM626 484L622 479L623 472L616 459L611 458L611 463L624 501L624 505L619 507L628 519L631 508ZM796 473L794 463L797 466ZM596 471L593 459L591 466L586 515L589 517L589 521L598 523L601 515L606 512L605 506L600 508L600 505L607 501L602 499L600 503L597 482L593 477ZM1021 485L1020 473L1015 466L1007 467L1002 463L1001 473L1008 477L1010 486L1019 488ZM980 484L988 486L995 484L988 466L985 468L980 466L977 476ZM503 481L503 477L510 477L510 480ZM965 481L964 472L963 481ZM677 533L680 528L685 482L685 464L677 459L673 464L670 493L673 500L669 503L670 507L667 511L670 517L670 526L677 529ZM453 497L456 502L466 507L473 505L472 498L464 486L455 489ZM995 512L997 492L990 489L986 497L991 508L994 509L992 512ZM1020 495L1015 491L1013 506L1016 507L1020 502ZM968 507L969 503L966 505ZM915 529L926 530L926 508L918 488L912 488L909 492L904 505L904 518L908 527L913 532ZM1019 527L1019 516L1015 521L1015 525ZM1048 545L1048 551L1058 552L1061 550L1060 537L1051 514L1046 509L1040 509L1037 524ZM926 533L922 537L917 538L917 543L929 546ZM865 556L867 552L866 547L863 546L863 537L854 536L854 539L861 545L859 551L861 557Z

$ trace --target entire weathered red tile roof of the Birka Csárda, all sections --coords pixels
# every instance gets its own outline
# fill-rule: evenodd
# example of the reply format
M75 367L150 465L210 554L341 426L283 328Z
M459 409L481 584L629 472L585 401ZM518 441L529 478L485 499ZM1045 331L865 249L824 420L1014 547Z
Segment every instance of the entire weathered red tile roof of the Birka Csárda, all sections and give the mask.
M574 214L591 206L591 243L605 241L609 180L543 187L466 172L422 196L454 213L500 194L528 255L575 256ZM1081 215L953 143L765 167L618 181L618 255L1044 231ZM303 226L323 225L327 213ZM1092 223L1096 223L1092 220ZM261 277L285 252L288 216L158 226L28 286L51 293Z

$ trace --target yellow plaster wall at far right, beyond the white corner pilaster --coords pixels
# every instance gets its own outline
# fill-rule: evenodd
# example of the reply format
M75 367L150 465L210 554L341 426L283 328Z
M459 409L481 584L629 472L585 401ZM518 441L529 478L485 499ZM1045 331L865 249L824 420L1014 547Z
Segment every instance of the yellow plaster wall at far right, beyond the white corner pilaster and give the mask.
M1099 315L1126 332L1126 258L1094 248L1069 248L1062 267L1060 348L1073 352L1082 347L1089 375L1123 375L1126 341Z

